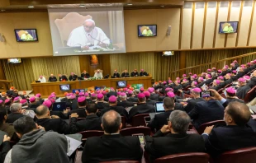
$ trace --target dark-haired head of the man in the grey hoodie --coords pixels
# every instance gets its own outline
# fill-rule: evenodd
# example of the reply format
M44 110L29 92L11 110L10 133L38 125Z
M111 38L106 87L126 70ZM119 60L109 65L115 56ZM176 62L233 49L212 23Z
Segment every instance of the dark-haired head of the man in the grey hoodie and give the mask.
M17 133L24 135L36 129L36 123L31 117L24 116L14 121L13 127Z

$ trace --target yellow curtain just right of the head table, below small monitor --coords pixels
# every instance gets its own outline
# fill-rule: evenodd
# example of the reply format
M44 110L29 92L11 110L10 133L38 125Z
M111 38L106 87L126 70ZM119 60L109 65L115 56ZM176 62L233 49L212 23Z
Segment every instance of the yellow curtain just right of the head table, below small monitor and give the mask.
M179 59L180 59L180 52L175 52L175 54L172 56L162 56L162 53L155 53L154 54L155 81L168 80L168 77L171 77L171 79L174 79L176 77L176 74L173 74L170 72L173 72L174 70L179 69Z

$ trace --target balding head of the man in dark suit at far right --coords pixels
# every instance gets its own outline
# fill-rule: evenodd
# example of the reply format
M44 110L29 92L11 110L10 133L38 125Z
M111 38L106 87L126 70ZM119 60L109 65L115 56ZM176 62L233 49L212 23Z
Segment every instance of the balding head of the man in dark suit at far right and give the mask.
M249 107L239 101L230 102L226 107L226 114L229 114L238 126L244 126L251 117Z

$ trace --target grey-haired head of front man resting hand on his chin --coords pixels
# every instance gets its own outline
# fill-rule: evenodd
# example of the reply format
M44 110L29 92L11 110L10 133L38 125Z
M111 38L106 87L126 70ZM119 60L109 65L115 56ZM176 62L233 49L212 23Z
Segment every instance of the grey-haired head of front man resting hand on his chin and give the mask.
M175 133L186 133L191 120L186 112L174 110L170 114L169 121L172 123L172 128Z

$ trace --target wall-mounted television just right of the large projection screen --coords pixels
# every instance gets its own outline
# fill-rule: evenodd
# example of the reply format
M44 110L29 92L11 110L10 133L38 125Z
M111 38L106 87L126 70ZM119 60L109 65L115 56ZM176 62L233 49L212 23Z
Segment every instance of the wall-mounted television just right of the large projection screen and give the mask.
M156 25L139 25L138 36L139 37L157 36L157 26Z

